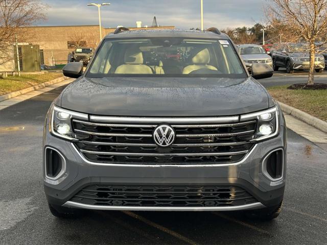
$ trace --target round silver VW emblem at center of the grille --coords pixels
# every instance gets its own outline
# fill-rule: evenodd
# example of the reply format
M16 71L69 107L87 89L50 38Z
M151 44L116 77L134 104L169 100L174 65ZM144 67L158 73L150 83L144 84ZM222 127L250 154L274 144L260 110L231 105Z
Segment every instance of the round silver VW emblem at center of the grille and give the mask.
M163 124L153 131L153 140L158 146L166 147L175 141L175 131L169 125Z

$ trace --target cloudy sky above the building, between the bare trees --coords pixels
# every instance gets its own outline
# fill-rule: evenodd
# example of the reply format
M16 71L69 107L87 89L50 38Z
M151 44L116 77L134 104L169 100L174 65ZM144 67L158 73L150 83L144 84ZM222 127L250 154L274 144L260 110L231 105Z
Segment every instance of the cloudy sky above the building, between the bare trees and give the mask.
M93 1L93 2L92 2ZM105 2L103 2L105 1ZM265 22L265 0L203 0L204 28L251 27ZM110 3L101 7L105 28L151 26L156 16L159 26L180 29L200 28L200 0L41 0L48 5L47 18L38 26L99 24L98 8L88 3Z

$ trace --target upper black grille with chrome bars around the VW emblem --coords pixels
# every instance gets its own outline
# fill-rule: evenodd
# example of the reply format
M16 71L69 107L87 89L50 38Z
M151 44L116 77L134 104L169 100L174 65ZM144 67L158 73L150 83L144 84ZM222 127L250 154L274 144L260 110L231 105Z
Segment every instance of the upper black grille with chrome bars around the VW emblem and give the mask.
M75 143L83 156L97 163L222 164L242 160L253 143L240 136L253 135L256 120L229 124L174 124L171 146L157 146L152 134L159 124L118 124L73 120L76 133L87 140Z

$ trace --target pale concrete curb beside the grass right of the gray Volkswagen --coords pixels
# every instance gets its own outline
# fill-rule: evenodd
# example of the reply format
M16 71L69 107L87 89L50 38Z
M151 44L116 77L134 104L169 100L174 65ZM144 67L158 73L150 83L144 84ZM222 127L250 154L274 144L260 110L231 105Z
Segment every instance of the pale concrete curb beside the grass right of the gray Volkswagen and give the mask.
M301 111L299 109L296 109L294 107L291 107L289 105L286 105L282 102L277 101L279 106L281 106L281 109L284 113L292 115L296 117L297 119L300 119L301 121L307 122L307 124L312 125L313 127L320 129L321 131L327 133L327 122L314 117L304 111Z

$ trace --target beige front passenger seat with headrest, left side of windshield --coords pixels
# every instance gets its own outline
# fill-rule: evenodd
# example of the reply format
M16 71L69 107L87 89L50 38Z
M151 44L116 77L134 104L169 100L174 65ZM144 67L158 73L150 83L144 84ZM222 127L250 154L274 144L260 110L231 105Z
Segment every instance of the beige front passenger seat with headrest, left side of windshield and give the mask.
M115 74L153 74L152 69L143 64L143 55L138 47L126 51L124 62L116 68Z

